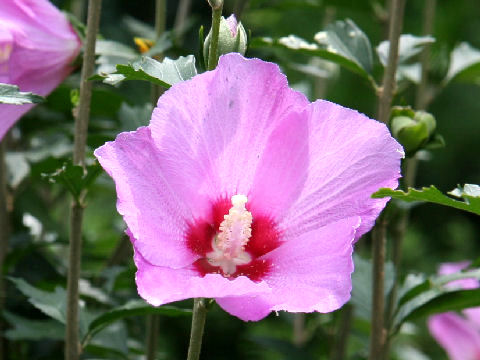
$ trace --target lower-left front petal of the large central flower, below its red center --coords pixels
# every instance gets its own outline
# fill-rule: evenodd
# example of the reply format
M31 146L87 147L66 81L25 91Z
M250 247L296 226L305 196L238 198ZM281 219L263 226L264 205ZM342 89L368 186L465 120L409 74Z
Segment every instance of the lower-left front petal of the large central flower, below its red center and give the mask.
M136 245L136 244L135 244ZM265 282L253 282L245 276L227 279L219 274L204 277L192 267L172 269L154 266L135 251L138 293L148 303L160 306L173 301L197 297L249 296L268 293Z

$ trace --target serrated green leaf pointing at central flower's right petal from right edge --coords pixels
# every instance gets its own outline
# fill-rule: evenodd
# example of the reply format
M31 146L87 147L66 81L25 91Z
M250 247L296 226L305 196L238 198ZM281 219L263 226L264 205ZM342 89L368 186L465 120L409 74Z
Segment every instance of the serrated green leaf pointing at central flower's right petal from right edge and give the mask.
M468 185L468 184L467 184ZM474 185L475 186L475 185ZM454 190L455 192L455 190ZM480 215L480 197L461 194L460 196L465 201L454 200L442 194L435 186L424 187L421 190L408 188L408 192L402 190L392 190L389 188L382 188L372 195L372 198L379 199L390 196L394 199L399 199L407 202L426 201L434 204L450 206L456 209L465 210L474 214Z

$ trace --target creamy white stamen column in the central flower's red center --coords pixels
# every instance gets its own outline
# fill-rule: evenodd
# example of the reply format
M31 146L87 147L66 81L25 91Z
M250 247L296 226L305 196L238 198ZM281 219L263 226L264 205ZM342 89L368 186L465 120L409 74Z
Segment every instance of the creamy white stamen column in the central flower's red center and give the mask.
M225 275L235 273L237 265L248 264L252 257L245 245L252 236L252 214L245 208L245 195L232 196L232 207L224 215L220 233L212 240L213 251L207 254L208 262L222 268Z

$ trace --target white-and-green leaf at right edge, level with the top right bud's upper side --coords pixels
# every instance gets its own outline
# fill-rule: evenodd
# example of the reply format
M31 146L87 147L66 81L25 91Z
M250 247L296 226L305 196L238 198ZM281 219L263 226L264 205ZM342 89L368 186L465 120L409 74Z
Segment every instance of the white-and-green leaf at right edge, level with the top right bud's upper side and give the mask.
M443 80L444 85L452 80L480 81L480 50L462 42L450 54L450 66L447 76Z

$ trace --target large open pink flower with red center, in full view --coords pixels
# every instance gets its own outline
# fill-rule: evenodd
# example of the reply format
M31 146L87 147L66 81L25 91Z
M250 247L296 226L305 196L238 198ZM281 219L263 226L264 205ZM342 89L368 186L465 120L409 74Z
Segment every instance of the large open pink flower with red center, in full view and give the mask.
M353 242L387 202L370 195L397 186L403 151L385 125L309 103L275 64L228 54L95 155L116 183L139 294L215 298L259 320L348 301Z

